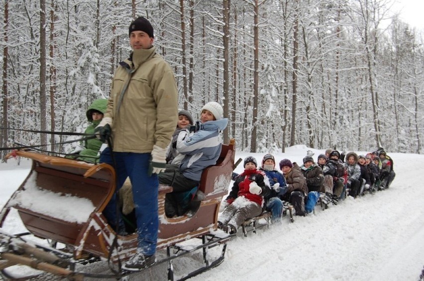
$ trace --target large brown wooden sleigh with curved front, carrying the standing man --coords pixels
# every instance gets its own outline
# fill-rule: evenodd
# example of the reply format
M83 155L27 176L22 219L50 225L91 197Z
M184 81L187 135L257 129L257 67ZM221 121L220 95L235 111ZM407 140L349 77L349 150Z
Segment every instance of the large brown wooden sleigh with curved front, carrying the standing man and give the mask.
M120 264L135 254L136 233L126 236L117 235L102 214L115 192L115 173L111 166L93 165L23 150L15 151L14 154L32 159L33 164L28 177L1 210L1 226L10 209L14 208L31 234L65 244L65 250L62 250L63 255L56 255L54 251L51 253L58 256L61 261L68 260L52 264L54 267L68 268L68 272L62 272L59 275L75 274L69 266L70 257L77 262L97 257ZM222 196L227 193L234 169L234 156L234 140L231 140L230 144L222 146L216 165L203 171L199 190L205 193L205 198L192 217L167 218L164 211L165 194L171 192L172 187L159 187L157 249L166 249L167 257L162 261L159 260L158 263L169 262L170 276L173 276L172 260L193 250L179 248L176 250L177 254L173 254L172 249L175 249L178 243L189 239L202 239L202 245L195 250L204 251L206 266L195 271L195 274L222 262L225 244L230 236L216 235L214 230L217 228L219 204ZM43 200L46 200L44 204ZM56 202L53 209L49 209L51 205L47 201ZM0 266L1 270L6 268L7 261L10 262L7 254L16 255L16 251L10 250L13 247L7 245L13 241L13 235L3 234L2 241L5 245L1 247L3 262L3 266ZM220 257L216 261L207 261L205 251L218 245L223 246ZM25 254L25 256L28 255ZM34 258L33 255L29 256ZM10 262L10 264L16 263L19 263L16 259ZM57 269L48 272L58 274L57 271L60 272ZM193 276L194 273L188 276ZM122 275L122 272L119 274Z

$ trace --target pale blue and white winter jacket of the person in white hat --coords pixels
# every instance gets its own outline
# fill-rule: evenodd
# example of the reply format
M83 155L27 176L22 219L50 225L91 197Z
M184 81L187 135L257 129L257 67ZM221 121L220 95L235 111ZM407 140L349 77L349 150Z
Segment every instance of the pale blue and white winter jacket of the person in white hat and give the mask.
M228 119L208 121L199 124L199 131L190 135L188 129L181 130L177 139L177 150L184 154L180 164L183 176L200 181L202 171L216 164L222 149L220 132L226 128Z

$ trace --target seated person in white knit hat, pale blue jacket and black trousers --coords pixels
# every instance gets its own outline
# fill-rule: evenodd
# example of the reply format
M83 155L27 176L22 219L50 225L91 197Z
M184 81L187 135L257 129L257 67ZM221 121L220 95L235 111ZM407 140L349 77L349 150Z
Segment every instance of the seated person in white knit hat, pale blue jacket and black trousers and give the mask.
M202 107L200 122L178 134L176 148L184 158L180 165L167 165L165 172L159 174L160 184L173 187L173 192L165 197L167 217L191 215L200 206L202 194L197 188L202 172L216 164L222 147L221 132L228 124L222 113L219 103L208 102ZM190 202L187 202L187 192L193 195Z

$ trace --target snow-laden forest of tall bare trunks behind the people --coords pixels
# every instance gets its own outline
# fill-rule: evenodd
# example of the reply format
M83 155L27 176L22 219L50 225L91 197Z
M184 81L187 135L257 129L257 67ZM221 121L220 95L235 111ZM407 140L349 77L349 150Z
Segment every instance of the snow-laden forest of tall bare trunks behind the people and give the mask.
M0 145L60 144L109 95L137 16L175 71L180 108L223 105L224 142L423 153L422 33L389 0L2 0ZM2 152L4 153L4 152Z

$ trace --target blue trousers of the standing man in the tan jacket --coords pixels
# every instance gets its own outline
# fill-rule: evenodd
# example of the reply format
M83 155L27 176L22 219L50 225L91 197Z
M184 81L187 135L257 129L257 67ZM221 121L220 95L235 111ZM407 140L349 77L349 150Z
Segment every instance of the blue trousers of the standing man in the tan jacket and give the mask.
M147 176L150 153L113 152L113 157L116 162L116 167L114 167L117 177L116 192L122 187L127 177L131 180L137 219L138 248L145 255L153 255L156 252L159 228L159 181L156 174ZM109 148L102 152L100 163L113 166ZM109 224L116 224L116 193L106 205L103 214ZM120 213L118 223L119 229L121 229L123 220Z

